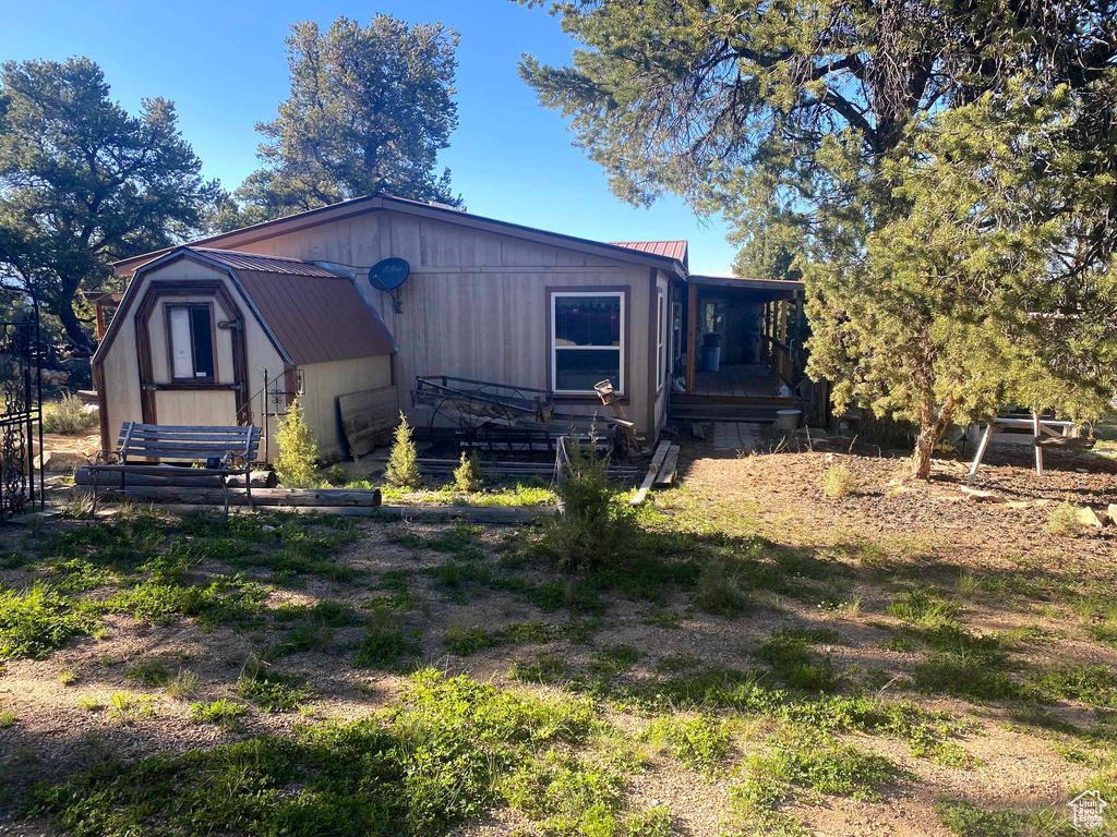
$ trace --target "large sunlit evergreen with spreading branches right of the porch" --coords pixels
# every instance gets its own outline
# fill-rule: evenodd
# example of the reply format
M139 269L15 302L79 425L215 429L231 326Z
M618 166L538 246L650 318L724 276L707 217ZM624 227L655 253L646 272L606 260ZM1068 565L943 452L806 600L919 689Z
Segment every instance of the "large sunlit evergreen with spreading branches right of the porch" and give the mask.
M929 473L952 419L989 415L1001 397L1097 412L1115 328L1113 0L552 10L588 48L572 67L524 59L543 104L572 119L620 196L670 191L724 212L743 244L738 270L802 271L810 372L834 379L840 404L917 421L914 474ZM967 119L992 172L955 158ZM1058 144L1053 167L1035 131ZM975 191L1001 177L1003 194ZM1027 189L1030 214L1010 211L1013 187ZM999 249L1004 240L1027 254Z

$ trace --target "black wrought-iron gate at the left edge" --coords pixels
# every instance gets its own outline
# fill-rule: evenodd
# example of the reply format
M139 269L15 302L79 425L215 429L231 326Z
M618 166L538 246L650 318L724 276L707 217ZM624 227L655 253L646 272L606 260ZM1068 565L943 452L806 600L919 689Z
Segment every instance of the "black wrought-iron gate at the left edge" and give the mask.
M0 523L44 508L42 345L34 319L0 320ZM36 484L38 470L38 484Z

